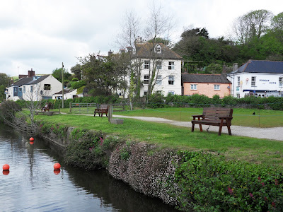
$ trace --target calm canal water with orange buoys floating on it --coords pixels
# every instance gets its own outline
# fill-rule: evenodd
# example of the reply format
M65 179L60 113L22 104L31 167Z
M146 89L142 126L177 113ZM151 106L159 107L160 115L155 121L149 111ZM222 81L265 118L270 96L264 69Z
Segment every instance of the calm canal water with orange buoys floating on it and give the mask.
M0 211L175 211L105 170L64 165L62 150L0 124ZM54 163L62 165L54 172ZM4 164L9 172L2 172Z

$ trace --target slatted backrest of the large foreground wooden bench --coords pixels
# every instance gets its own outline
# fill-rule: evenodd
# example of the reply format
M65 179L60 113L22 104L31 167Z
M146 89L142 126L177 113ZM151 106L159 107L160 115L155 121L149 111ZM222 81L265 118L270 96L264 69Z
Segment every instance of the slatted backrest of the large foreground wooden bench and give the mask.
M204 107L202 115L205 119L219 120L219 117L232 117L233 109L226 107Z

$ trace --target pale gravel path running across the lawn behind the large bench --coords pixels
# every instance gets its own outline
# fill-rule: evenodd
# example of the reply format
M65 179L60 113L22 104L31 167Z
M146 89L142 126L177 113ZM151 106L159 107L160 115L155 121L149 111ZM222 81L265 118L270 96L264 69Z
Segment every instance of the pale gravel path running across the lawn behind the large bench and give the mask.
M166 124L173 124L175 126L186 126L191 127L191 122L179 122L173 121L163 118L156 118L156 117L128 117L128 116L121 116L121 115L113 115L115 118L130 118L130 119L139 119L142 121L148 122L157 122L157 123L166 123ZM208 126L202 125L203 130L207 130L209 127L209 131L217 131L219 127L217 126ZM195 124L196 129L200 129L198 124ZM272 139L277 141L283 141L283 127L272 127L272 128L259 128L259 127L249 127L249 126L231 126L232 135L235 136L247 136L252 138L258 139ZM222 133L228 134L227 127L224 126L222 128Z

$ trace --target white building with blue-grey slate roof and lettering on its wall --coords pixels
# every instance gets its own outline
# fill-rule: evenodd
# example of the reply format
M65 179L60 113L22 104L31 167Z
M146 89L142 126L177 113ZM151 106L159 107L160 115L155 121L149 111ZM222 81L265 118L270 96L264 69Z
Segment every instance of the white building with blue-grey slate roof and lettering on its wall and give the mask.
M231 95L237 98L283 96L283 61L250 59L239 68L234 64L227 78L232 83Z

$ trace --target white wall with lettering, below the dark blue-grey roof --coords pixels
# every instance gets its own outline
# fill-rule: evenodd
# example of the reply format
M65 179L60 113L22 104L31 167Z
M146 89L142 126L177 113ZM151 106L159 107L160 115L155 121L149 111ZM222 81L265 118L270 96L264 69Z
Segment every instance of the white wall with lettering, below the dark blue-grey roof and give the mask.
M238 81L238 77L240 81ZM252 86L252 77L255 77L255 86ZM232 83L231 95L243 98L249 92L243 90L278 90L283 92L282 85L279 85L279 78L283 77L283 73L236 73L227 78ZM253 93L253 91L251 91ZM256 92L257 96L265 95L265 93Z

